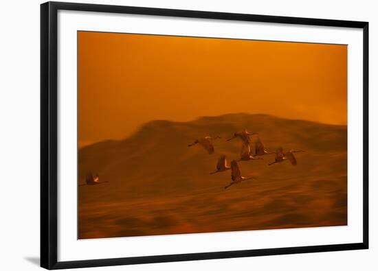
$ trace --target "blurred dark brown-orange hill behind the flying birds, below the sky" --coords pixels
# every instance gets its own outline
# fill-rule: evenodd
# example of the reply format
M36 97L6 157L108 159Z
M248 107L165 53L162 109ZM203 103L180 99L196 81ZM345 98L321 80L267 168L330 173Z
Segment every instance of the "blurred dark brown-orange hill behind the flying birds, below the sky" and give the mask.
M122 123L120 123L122 125ZM274 156L239 165L250 180L223 189L230 172L210 175L247 128L268 150L303 149L298 165L267 166ZM188 143L219 135L215 153ZM255 137L255 136L254 136ZM252 139L254 138L252 137ZM336 226L347 222L346 126L230 114L190 122L151 121L122 141L79 150L79 183L88 172L109 183L79 187L79 238Z

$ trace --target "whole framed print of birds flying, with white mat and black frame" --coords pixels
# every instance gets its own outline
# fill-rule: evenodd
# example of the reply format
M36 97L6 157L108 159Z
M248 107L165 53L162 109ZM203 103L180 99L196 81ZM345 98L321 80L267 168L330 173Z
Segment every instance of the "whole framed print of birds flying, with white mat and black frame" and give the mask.
M368 248L368 23L41 5L41 266Z

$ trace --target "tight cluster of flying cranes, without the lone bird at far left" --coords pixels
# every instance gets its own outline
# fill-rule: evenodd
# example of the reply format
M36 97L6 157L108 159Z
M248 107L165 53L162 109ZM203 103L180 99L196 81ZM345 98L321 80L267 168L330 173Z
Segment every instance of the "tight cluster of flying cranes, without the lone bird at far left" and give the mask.
M263 142L260 140L260 137L258 137L256 143L254 144L254 154L252 154L252 135L258 135L256 132L248 132L247 130L244 130L242 132L235 132L234 135L227 139L227 141L230 141L232 139L241 139L242 141L242 147L241 147L241 154L239 160L232 160L230 163L230 166L227 165L227 159L225 157L225 154L221 154L219 157L218 163L216 163L216 171L210 172L210 174L216 174L218 172L225 172L227 170L231 170L231 182L229 185L225 186L225 189L230 187L231 185L236 185L244 180L249 180L254 177L244 177L241 176L241 171L238 166L239 161L249 161L249 160L257 160L262 159L260 156L266 155L266 154L276 154L274 158L274 162L269 163L268 165L273 165L275 163L281 163L284 161L289 161L291 165L297 165L296 156L294 156L294 153L296 152L304 152L304 150L289 150L287 152L283 152L283 149L280 147L276 150L276 152L268 152L265 150L265 146ZM208 151L209 154L214 153L214 145L212 144L212 141L214 139L220 139L221 137L201 137L200 139L196 139L194 142L188 144L188 147L192 147L193 145L199 144L201 145L205 150Z

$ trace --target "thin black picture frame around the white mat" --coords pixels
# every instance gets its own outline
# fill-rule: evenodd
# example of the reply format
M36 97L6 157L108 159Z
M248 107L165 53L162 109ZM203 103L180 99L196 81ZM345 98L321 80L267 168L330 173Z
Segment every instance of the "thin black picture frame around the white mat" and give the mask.
M351 27L363 30L363 241L355 244L333 244L324 246L300 246L190 253L180 255L157 255L113 259L91 259L82 261L58 261L57 241L57 13L58 10L84 12L110 12L120 14L145 14L176 16L197 19L222 19L295 25L319 25L327 27ZM47 2L41 4L41 267L47 269L85 268L96 266L118 266L137 263L160 263L168 261L192 261L263 255L285 255L293 253L357 250L368 248L368 22L309 19L285 16L203 12L194 10L171 10L162 8L140 8L118 5Z

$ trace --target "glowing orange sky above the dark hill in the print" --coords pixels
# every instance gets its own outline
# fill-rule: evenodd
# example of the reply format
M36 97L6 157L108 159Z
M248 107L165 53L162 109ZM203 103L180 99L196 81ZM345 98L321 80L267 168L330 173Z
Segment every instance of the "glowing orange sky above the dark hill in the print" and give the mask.
M346 124L346 106L346 45L78 32L79 146L225 113Z

